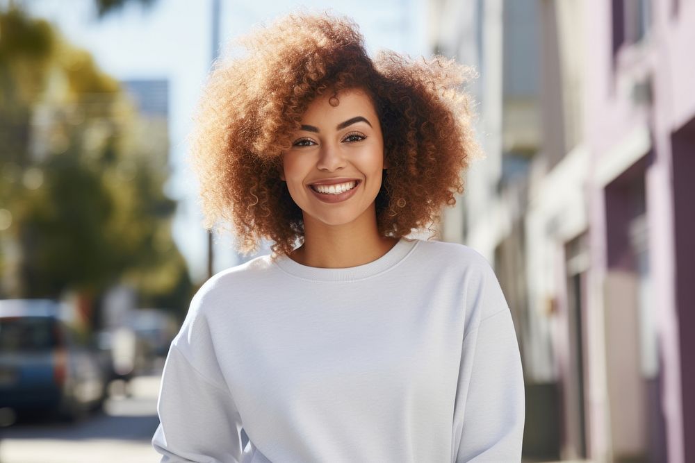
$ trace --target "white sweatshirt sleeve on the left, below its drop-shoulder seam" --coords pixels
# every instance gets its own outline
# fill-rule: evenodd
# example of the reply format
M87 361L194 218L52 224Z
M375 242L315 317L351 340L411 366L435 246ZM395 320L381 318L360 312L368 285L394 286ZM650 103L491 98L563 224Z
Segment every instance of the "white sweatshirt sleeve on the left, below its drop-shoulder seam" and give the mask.
M152 445L161 462L241 461L241 420L229 390L199 373L175 345L165 362L157 412Z

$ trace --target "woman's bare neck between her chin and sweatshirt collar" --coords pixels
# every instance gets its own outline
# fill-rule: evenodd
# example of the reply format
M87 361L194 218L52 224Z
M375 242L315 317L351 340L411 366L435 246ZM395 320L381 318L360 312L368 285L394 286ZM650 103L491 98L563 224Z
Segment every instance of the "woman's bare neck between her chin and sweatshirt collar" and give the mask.
M304 244L290 257L300 264L344 269L373 262L398 242L379 235L375 206L350 224L327 225L304 214Z

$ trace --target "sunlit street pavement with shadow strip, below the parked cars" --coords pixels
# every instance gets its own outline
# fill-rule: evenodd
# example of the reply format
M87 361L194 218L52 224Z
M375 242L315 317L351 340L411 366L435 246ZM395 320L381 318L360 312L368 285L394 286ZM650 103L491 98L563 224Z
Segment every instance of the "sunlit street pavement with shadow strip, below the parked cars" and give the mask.
M104 413L78 424L20 421L0 428L0 463L152 463L150 440L157 428L159 376L130 383L130 397L114 395Z

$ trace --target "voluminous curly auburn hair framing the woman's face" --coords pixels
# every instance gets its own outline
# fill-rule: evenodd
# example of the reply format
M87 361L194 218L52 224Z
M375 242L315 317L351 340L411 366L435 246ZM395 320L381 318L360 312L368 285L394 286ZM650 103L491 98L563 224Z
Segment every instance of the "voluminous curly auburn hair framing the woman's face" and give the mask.
M429 226L464 191L462 174L479 151L461 88L468 67L391 51L372 60L357 24L327 14L288 15L235 43L246 53L215 62L189 162L204 226L230 230L243 253L270 239L274 255L287 254L304 238L302 211L279 178L281 153L309 103L327 91L359 88L375 104L389 165L375 204L379 233Z

